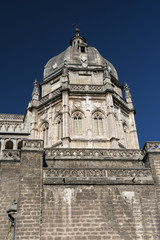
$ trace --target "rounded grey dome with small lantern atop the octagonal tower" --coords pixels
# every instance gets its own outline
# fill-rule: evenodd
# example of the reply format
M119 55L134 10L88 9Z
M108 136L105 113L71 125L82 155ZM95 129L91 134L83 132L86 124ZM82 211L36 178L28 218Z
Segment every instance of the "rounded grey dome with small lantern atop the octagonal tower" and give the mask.
M102 69L104 66L109 67L111 75L118 80L117 71L114 66L106 59L104 59L98 50L94 47L88 47L85 39L79 35L75 35L70 41L69 46L64 52L51 58L44 67L44 81L49 76L60 70L64 66L64 62L68 66L79 68L82 65L81 56L85 55L88 61L88 70ZM82 49L80 51L79 49ZM86 50L84 50L86 49Z

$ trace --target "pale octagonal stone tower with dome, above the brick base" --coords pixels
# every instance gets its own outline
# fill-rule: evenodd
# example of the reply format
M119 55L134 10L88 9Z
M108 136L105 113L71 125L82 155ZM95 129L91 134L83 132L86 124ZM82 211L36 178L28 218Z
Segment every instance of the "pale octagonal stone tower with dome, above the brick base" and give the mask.
M70 46L45 65L40 100L35 89L30 138L43 139L45 147L139 149L127 84L125 101L115 68L78 29Z

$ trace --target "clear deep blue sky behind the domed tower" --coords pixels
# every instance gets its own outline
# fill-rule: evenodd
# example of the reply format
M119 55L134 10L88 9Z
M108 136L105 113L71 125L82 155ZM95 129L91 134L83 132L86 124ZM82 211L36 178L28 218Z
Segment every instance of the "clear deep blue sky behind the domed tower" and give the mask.
M0 112L24 114L34 79L68 47L73 23L128 82L140 146L160 140L159 0L1 1Z

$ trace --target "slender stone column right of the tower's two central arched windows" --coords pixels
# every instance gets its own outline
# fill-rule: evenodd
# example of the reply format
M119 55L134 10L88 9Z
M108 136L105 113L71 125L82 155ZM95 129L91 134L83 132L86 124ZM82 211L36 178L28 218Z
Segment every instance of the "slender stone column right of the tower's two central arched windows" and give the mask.
M106 105L107 105L107 119L108 119L109 139L111 142L111 148L118 148L112 93L107 93Z

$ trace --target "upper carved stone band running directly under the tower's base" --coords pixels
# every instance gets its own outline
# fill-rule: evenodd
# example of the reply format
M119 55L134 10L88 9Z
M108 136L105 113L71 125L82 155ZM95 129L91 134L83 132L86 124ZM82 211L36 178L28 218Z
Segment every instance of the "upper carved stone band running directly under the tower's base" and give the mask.
M114 149L46 149L46 158L55 157L92 157L111 159L143 159L141 150L114 150Z

